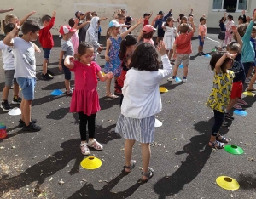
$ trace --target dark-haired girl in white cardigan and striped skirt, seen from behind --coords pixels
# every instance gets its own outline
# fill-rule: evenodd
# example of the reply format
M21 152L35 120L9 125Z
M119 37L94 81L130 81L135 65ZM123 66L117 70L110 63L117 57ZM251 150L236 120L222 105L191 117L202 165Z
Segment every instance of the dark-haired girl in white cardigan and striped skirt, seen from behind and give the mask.
M125 139L125 173L130 173L136 164L135 160L131 160L135 141L141 143L142 182L147 182L154 175L154 170L148 167L151 153L149 144L154 142L154 115L162 109L159 83L172 73L172 65L166 55L166 44L162 41L158 52L164 65L163 70L159 69L160 61L153 45L142 43L137 46L122 88L124 100L115 128L115 132Z

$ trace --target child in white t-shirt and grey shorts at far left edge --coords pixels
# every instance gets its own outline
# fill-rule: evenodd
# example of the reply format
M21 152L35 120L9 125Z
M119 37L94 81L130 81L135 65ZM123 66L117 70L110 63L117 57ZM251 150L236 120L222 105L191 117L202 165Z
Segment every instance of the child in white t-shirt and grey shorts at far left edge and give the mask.
M15 28L14 24L8 24L4 27L4 34L8 35L10 31ZM14 37L19 36L19 31L16 31ZM20 104L21 98L19 97L19 85L16 81L15 76L15 64L14 64L14 53L12 48L5 45L3 41L0 41L0 49L3 54L3 69L4 69L4 77L5 77L5 87L3 88L3 102L1 108L3 111L10 111L12 107L8 103L8 95L9 89L13 85L14 81L14 99L12 104Z

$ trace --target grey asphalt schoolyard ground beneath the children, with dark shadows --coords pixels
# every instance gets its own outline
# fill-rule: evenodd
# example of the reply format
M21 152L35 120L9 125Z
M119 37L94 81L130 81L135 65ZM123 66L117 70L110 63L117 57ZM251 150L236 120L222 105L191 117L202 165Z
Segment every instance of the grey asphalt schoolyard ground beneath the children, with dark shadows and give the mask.
M218 35L208 35L217 39ZM192 41L188 82L170 83L165 78L160 86L169 91L161 94L163 110L157 118L163 126L156 128L150 166L154 177L138 184L142 158L138 143L134 146L136 168L129 175L124 166L124 139L114 133L119 117L119 99L105 97L105 82L99 82L98 93L102 111L96 115L96 139L103 151L92 151L102 160L102 167L85 170L79 149L79 118L69 112L70 97L51 96L55 89L64 91L64 76L58 69L60 47L52 50L49 70L55 73L51 81L41 80L43 54L37 54L37 77L32 118L42 130L22 132L17 127L19 116L9 116L0 110L0 122L7 125L8 137L0 140L1 198L256 198L255 171L255 101L243 96L250 104L246 117L234 116L229 128L221 134L239 145L243 155L235 156L207 146L213 123L213 112L205 106L212 90L213 73L210 58L197 57L198 40ZM206 39L205 53L211 54L215 43ZM104 52L102 52L102 55ZM105 61L99 56L103 67ZM178 77L183 77L179 69ZM0 63L1 98L4 87L3 63ZM73 85L73 82L72 82ZM113 88L113 86L112 86ZM20 94L21 95L21 94ZM12 91L9 93L9 101ZM252 159L253 158L253 159ZM240 184L236 191L224 190L216 184L218 176L230 176ZM64 182L60 185L59 181Z

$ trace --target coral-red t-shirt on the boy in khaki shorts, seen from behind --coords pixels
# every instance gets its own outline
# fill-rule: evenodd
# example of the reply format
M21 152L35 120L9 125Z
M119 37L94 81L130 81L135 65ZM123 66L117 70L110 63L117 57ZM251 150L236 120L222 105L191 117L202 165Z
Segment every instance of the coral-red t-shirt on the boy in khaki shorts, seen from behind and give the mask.
M188 34L180 34L174 44L176 44L177 54L191 54L192 45L191 38L194 36L194 31L190 31Z

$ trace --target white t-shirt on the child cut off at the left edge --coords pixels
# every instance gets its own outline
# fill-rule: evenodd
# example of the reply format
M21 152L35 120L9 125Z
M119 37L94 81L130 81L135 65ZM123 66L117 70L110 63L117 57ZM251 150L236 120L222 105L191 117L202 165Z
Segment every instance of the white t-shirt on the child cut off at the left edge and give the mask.
M0 41L0 49L2 50L3 57L3 69L4 70L15 70L15 57L13 47L9 47Z

